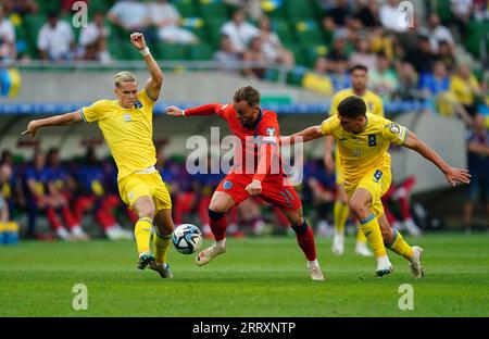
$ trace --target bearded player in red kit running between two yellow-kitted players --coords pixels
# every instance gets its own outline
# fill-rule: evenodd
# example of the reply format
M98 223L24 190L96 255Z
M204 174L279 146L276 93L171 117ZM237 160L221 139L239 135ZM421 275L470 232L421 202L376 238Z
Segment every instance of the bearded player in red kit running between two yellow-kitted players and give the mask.
M166 109L166 114L172 116L217 114L227 122L240 141L237 142L239 147L235 147L233 170L221 181L209 205L215 242L197 255L196 264L205 265L226 251L226 212L250 196L260 196L285 213L308 259L311 278L323 281L312 229L302 215L299 196L281 168L277 115L273 111L260 109L260 92L251 86L239 88L233 99L231 104L210 103L188 110L176 106Z

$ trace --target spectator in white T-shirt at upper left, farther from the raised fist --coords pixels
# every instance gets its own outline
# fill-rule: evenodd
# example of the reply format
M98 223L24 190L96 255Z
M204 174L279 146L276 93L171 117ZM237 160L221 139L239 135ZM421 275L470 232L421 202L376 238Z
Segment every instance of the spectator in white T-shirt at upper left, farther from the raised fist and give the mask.
M49 13L48 22L42 25L37 36L37 48L42 60L73 60L75 40L72 27L60 21L55 12Z

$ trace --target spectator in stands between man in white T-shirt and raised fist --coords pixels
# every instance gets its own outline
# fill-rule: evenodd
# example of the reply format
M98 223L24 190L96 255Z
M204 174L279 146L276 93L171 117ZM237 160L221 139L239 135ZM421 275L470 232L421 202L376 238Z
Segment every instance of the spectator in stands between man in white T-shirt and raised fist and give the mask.
M106 50L108 37L109 28L104 26L104 15L102 12L96 12L93 21L84 27L79 35L83 59L109 62L111 56Z

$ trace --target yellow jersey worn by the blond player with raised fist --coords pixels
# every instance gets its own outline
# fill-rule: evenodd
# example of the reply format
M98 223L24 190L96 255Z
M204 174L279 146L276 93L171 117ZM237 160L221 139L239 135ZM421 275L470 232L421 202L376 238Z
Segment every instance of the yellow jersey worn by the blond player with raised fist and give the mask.
M156 163L153 105L142 90L131 109L122 108L117 100L100 100L80 110L86 123L98 122L117 165L117 180Z

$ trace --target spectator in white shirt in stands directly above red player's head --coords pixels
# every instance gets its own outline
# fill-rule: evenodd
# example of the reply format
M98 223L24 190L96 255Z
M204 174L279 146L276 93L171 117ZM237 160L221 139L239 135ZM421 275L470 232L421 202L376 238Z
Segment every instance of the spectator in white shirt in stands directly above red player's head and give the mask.
M246 22L244 11L237 10L233 13L233 20L221 27L221 34L229 37L233 48L238 53L243 53L251 39L260 35L260 30L252 24Z

